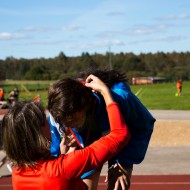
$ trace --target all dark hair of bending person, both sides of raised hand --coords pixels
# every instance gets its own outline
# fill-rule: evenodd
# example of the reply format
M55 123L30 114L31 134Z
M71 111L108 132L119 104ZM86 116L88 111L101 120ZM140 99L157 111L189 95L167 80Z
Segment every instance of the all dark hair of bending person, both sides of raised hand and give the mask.
M72 115L86 107L90 107L94 96L90 89L81 81L94 74L105 82L108 87L117 82L126 82L125 74L115 70L87 70L74 78L65 78L57 81L48 92L48 110L55 121L61 125L61 121L68 115Z

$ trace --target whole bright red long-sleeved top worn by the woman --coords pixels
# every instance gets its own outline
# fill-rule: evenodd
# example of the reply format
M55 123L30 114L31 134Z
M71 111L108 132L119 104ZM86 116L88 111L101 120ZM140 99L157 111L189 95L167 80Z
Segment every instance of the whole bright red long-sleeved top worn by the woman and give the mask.
M130 139L118 105L108 105L107 112L111 127L109 135L84 149L39 161L36 169L13 168L14 190L85 190L80 176L117 154Z

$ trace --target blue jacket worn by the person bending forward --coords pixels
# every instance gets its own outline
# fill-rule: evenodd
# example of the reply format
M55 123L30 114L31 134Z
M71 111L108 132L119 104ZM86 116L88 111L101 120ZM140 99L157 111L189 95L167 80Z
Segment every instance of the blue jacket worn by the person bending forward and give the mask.
M128 168L133 164L141 163L144 159L153 132L155 119L140 100L132 93L127 84L123 82L117 83L113 85L110 90L114 100L119 104L124 120L129 127L131 140L119 154L109 160L109 164L119 162L123 167ZM86 122L86 128L84 131L80 133L74 131L80 139L82 137L83 141L81 140L81 144L83 144L83 146L88 145L102 135L107 134L110 129L104 99L101 95L94 94L94 96L97 101L93 118L89 116L89 121ZM54 132L55 124L50 122L50 116L48 118L53 137L51 153L54 156L58 156L60 137L57 135L57 132ZM93 121L91 122L91 120ZM89 125L92 125L90 126L90 135L88 143L84 145ZM57 129L58 128L56 128L56 130Z

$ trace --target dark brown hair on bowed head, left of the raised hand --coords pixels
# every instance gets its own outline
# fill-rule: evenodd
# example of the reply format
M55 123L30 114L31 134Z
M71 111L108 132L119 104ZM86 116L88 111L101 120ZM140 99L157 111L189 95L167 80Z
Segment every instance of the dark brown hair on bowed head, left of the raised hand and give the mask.
M65 78L57 81L48 92L48 110L61 124L66 116L87 108L93 98L90 89L81 82Z

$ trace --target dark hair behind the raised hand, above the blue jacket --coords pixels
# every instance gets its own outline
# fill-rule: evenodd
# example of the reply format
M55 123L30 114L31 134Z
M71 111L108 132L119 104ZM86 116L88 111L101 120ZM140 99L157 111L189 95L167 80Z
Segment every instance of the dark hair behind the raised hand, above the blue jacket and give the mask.
M76 78L79 80L86 80L86 78L93 74L100 78L108 87L111 87L113 84L118 82L127 82L125 73L116 71L116 70L87 70L80 72L76 75Z

